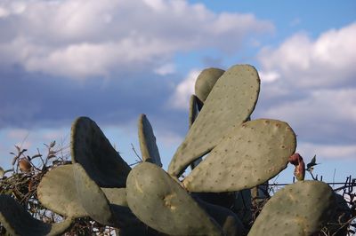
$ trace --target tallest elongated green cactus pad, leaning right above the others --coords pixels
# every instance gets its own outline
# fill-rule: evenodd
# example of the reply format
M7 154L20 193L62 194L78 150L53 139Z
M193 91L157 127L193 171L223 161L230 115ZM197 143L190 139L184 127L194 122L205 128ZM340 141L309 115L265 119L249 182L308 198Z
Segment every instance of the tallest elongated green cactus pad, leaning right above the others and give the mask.
M190 162L211 151L255 109L260 79L255 67L237 65L214 84L197 120L169 164L168 173L180 176Z

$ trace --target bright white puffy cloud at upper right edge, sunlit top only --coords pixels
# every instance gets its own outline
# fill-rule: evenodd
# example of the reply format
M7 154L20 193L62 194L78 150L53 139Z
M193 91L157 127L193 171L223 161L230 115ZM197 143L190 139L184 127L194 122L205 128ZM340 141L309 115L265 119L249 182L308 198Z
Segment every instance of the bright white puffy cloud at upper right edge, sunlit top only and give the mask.
M354 81L356 23L330 29L317 39L298 33L259 54L264 73L278 73L290 86L330 88Z

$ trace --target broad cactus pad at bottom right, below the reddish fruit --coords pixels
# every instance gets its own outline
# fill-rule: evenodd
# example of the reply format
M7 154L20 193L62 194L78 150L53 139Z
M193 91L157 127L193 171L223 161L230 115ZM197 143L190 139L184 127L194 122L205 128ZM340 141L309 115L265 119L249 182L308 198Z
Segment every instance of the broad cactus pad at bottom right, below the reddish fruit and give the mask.
M248 235L313 235L334 214L335 204L327 184L298 181L271 197Z

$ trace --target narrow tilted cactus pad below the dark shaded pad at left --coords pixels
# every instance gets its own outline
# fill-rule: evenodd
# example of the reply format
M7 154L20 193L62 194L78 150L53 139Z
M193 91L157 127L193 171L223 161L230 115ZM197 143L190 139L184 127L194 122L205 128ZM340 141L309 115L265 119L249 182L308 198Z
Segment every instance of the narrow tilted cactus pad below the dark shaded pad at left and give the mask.
M79 163L73 164L73 176L78 199L88 215L101 224L112 224L113 215L109 201L99 185L86 174L85 169Z

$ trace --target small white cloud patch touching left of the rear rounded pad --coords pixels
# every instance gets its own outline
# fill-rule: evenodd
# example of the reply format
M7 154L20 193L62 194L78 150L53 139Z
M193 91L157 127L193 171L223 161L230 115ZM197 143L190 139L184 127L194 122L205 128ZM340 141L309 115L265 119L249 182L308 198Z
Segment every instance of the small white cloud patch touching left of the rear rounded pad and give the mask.
M195 81L199 74L200 70L198 69L190 71L187 77L176 86L173 96L168 100L168 106L180 110L188 110L190 95L194 94Z

